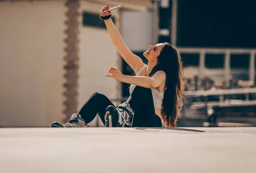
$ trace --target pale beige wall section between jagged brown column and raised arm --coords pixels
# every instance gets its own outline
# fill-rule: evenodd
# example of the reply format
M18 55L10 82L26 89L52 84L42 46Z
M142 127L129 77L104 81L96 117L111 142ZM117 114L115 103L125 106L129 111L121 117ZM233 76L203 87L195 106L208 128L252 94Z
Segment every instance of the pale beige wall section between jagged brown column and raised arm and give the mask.
M81 1L81 12L90 11L99 14L105 4L96 4ZM118 9L113 11L113 15L118 19ZM118 25L118 24L117 24ZM85 27L80 25L80 63L79 63L79 108L95 92L105 94L110 99L117 97L121 92L118 89L118 82L109 77L108 68L113 66L119 68L119 53L113 46L111 38L106 29ZM119 68L120 69L120 68ZM90 123L94 126L96 121ZM103 125L103 124L101 124Z

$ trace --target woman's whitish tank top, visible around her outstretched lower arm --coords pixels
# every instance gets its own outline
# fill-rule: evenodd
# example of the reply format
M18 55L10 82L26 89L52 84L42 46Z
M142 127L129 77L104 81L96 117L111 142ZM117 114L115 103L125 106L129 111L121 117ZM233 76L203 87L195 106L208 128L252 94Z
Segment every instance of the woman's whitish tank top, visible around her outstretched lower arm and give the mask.
M136 76L140 76L140 74L142 73L143 70L145 70L145 68L147 68L148 65L143 65L142 68L140 68L140 70L137 72ZM130 94L132 93L132 91L134 91L134 88L136 87L136 85L131 84L130 86ZM157 108L162 108L162 103L163 103L163 96L164 96L164 91L166 91L166 88L164 89L163 92L159 92L157 91L156 88L150 88L152 91L152 95L153 95L153 101L154 101L154 107Z

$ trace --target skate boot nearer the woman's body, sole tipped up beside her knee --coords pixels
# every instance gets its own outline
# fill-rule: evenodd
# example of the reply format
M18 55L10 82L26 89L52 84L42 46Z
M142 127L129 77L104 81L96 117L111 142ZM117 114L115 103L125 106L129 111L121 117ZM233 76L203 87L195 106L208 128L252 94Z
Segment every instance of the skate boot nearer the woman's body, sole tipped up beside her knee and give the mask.
M129 103L124 102L114 106L108 106L105 114L105 127L131 127L134 113Z

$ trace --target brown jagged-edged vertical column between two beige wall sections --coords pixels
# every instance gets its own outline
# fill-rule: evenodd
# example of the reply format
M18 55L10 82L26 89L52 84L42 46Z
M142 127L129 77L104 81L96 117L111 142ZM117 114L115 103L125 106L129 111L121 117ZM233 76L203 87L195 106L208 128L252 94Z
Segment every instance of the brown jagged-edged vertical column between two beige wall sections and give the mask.
M65 109L63 113L65 117L63 122L68 122L70 115L77 111L78 105L78 69L79 69L79 0L67 0L65 3L67 11L65 13L66 20L66 38L64 39L65 48L64 51L66 55L65 60L65 74L66 79L64 86L64 96L65 100L63 102Z

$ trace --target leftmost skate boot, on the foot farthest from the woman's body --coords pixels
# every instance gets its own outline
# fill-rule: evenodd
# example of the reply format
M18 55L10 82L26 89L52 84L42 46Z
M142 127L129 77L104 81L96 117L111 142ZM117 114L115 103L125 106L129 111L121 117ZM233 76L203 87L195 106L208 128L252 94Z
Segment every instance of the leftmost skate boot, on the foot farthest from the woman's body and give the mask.
M52 128L83 128L83 127L89 127L88 125L85 125L84 119L81 118L81 115L78 113L74 113L70 121L66 124L62 125L59 122L53 122L51 125Z

